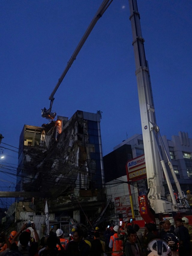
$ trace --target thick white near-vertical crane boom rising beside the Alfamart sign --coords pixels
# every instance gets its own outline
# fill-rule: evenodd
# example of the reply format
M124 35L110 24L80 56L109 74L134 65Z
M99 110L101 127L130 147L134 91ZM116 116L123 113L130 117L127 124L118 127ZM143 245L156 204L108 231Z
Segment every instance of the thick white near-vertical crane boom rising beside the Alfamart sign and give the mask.
M136 64L135 73L137 77L143 145L146 160L146 174L149 188L148 199L150 206L155 211L155 213L178 211L183 209L183 207L179 207L177 204L164 160L161 158L160 161L161 152L158 146L158 135L160 136L160 133L159 128L156 125L155 107L149 75L149 66L145 56L144 39L141 33L140 14L137 9L137 0L129 0L129 7L131 14L130 21L133 35L133 47ZM160 162L168 184L172 203L167 201L165 198ZM175 173L173 173L173 166L170 161L168 164L170 165L170 169L172 171L178 191L181 194L182 191L179 182L176 175L174 175Z

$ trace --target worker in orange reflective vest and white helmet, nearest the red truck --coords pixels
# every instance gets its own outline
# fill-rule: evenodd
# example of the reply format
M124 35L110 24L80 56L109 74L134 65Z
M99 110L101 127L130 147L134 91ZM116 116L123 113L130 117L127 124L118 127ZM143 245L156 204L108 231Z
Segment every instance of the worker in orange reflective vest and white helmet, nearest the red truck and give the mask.
M114 235L110 237L109 248L113 256L123 255L123 241L118 237L117 231L119 226L113 227Z

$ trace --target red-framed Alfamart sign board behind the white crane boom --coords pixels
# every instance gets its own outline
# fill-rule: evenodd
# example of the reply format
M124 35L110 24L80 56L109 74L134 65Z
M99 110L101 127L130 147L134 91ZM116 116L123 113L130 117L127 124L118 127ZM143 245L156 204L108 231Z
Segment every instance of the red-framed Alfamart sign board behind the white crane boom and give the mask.
M130 181L137 181L146 178L145 155L140 155L129 160L126 164L126 169L128 171Z

